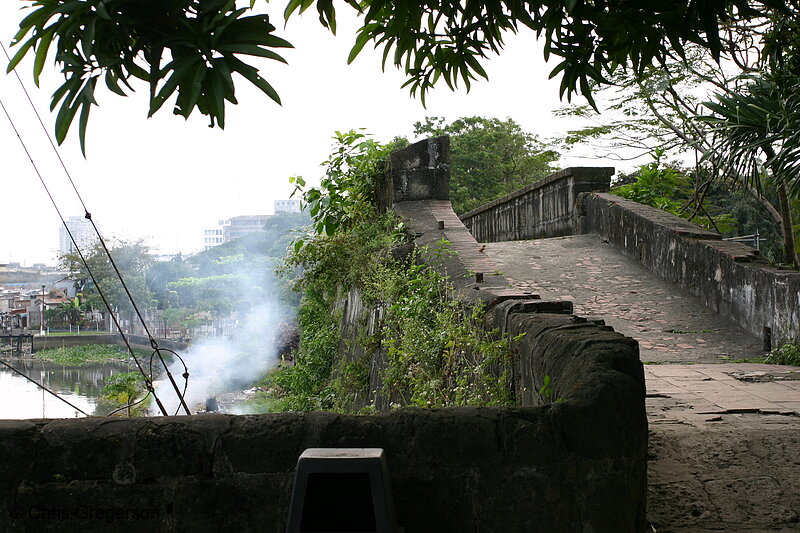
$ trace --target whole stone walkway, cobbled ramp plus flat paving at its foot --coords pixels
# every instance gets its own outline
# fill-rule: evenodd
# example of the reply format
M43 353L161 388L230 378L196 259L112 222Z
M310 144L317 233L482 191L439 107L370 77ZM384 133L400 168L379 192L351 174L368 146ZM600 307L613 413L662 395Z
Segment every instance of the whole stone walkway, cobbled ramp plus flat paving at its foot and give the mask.
M732 364L763 355L760 340L596 235L485 252L515 287L639 341L649 531L800 531L800 368Z

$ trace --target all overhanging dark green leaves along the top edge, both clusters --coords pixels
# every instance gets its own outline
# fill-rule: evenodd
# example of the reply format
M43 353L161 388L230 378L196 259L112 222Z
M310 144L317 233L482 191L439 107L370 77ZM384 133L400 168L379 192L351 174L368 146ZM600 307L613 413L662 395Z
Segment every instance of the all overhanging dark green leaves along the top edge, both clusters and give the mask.
M94 81L103 76L111 91L123 95L129 80L150 83L150 114L177 93L173 111L188 117L195 108L225 123L225 103L235 103L232 74L237 73L280 103L272 85L236 56L283 61L277 48L291 46L277 37L266 15L245 16L234 0L25 0L31 12L20 23L19 47L9 69L32 50L38 82L48 50L55 44L64 85L56 130L61 139L74 117L85 123L95 105ZM795 0L793 0L794 2ZM250 0L252 7L254 0ZM486 78L484 61L499 53L504 36L530 28L544 39L545 58L557 62L561 95L592 100L593 87L610 83L617 68L636 73L683 56L695 43L719 58L725 52L720 32L732 23L780 19L783 0L345 0L362 19L348 61L368 42L383 48L387 62L403 70L412 95L425 94L441 80L467 89ZM336 32L333 0L289 0L284 17L316 7L320 22ZM781 33L790 38L789 27ZM775 55L780 57L778 50ZM163 63L163 65L162 65ZM521 66L524 68L524 66ZM63 107L66 106L66 109ZM74 109L73 109L74 108ZM78 113L80 111L80 113ZM83 134L80 134L83 137Z

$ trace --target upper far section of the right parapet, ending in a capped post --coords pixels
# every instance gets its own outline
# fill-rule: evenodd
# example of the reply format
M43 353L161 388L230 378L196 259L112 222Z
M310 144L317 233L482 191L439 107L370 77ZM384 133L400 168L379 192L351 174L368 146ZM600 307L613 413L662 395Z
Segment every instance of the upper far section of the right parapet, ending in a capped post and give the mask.
M544 239L575 233L575 202L609 189L614 169L574 167L556 172L461 216L480 242Z

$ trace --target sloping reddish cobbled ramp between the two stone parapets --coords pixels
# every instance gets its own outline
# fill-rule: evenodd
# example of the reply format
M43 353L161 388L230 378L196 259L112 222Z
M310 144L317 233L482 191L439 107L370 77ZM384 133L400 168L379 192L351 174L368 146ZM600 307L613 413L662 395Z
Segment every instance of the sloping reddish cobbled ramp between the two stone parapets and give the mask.
M571 300L639 341L644 362L719 363L763 355L762 342L693 296L651 274L597 235L487 243L516 287Z

